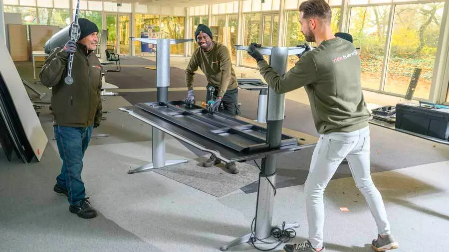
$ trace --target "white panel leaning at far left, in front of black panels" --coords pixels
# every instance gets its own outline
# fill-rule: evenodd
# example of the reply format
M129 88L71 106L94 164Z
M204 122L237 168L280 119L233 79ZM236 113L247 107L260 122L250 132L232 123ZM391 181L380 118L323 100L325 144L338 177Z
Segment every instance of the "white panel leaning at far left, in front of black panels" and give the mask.
M11 55L6 49L6 44L3 39L0 39L0 72L6 84L9 94L11 95L20 123L25 131L31 148L33 148L34 155L40 161L42 153L45 150L48 139L45 132L40 125L33 105L29 100L22 80L12 62Z

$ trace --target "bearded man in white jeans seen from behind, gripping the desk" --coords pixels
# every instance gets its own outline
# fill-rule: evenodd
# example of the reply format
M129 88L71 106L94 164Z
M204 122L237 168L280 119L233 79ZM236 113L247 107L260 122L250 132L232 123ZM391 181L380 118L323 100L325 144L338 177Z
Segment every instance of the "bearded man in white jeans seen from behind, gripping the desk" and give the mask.
M378 237L375 251L399 247L379 191L370 175L371 118L362 93L360 57L354 45L335 37L331 27L331 8L325 0L307 0L299 6L301 31L306 41L317 47L301 55L295 66L280 76L256 51L249 55L257 61L260 74L278 94L304 87L320 138L313 151L305 182L309 239L286 245L285 252L323 252L324 189L344 158L347 159L357 187L376 220Z

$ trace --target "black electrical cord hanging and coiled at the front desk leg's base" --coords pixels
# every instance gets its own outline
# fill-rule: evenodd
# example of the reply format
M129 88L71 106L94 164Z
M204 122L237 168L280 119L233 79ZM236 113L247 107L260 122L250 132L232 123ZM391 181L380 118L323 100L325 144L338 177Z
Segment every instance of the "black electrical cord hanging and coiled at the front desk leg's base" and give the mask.
M267 178L265 172L263 172L262 169L260 169L259 165L257 164L257 162L255 160L254 160L254 163L256 164L257 168L260 170L262 175L270 183L271 187L273 188L274 195L276 195L276 187ZM253 229L254 222L255 222L255 218L252 219L252 222L251 222L251 237L249 238L249 240L251 241L252 247L254 247L258 251L271 251L271 250L274 250L277 247L279 247L282 243L288 243L292 238L296 237L296 231L294 231L293 229L285 229L285 222L282 222L282 229L280 229L278 227L275 227L275 228L271 229L271 236L277 239L276 242L265 242L265 241L262 241L261 239L258 239L255 236L255 234L254 234L254 229ZM257 248L256 243L255 243L256 241L259 241L261 244L276 244L276 245L273 248L270 248L270 249L260 249L260 248Z

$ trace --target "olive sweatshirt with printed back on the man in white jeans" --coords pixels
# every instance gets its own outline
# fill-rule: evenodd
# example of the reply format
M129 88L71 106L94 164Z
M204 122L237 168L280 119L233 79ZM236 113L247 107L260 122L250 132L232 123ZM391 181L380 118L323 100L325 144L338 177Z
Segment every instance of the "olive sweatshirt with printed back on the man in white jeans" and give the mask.
M338 37L323 41L282 76L264 60L257 65L278 94L305 88L318 133L368 126L371 114L362 93L360 57L352 43Z

